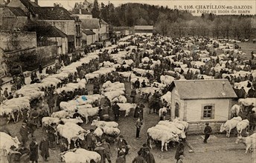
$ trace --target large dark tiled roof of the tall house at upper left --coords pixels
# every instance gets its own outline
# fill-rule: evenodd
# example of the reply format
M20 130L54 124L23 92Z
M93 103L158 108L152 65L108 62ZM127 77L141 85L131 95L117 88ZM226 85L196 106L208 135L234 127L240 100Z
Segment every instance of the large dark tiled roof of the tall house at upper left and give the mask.
M74 20L63 7L33 7L33 10L41 20Z

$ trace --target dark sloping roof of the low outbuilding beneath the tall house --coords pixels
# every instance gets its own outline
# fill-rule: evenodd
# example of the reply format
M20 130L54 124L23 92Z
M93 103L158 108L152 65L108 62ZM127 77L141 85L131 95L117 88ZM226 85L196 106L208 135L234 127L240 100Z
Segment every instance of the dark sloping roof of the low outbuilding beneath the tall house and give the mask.
M68 37L65 33L53 26L36 26L32 27L30 31L36 32L36 36L45 37Z

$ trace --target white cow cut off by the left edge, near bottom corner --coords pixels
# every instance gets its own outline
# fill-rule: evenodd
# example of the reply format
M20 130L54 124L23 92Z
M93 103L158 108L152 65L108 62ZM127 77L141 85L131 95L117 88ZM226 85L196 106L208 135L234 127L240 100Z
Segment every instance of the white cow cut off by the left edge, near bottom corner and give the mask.
M17 136L15 138L11 137L10 135L8 135L7 133L4 132L0 132L0 149L1 150L6 150L6 153L4 156L6 156L8 153L10 153L10 147L11 146L15 146L16 148L19 147L19 139L17 138Z

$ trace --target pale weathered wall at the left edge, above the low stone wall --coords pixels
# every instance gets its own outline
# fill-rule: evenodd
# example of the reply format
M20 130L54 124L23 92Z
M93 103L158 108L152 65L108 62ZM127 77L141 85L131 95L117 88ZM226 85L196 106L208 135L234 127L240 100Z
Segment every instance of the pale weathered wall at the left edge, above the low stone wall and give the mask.
M36 47L36 33L1 31L0 47L4 51L31 49Z

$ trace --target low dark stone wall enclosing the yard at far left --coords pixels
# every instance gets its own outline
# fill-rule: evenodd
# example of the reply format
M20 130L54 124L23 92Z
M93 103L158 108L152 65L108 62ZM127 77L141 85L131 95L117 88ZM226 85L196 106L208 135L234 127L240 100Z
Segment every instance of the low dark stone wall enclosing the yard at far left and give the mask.
M10 68L13 64L19 64L22 66L23 71L35 70L38 68L39 63L42 63L43 65L48 64L49 61L54 61L56 56L56 45L4 53L7 67Z

